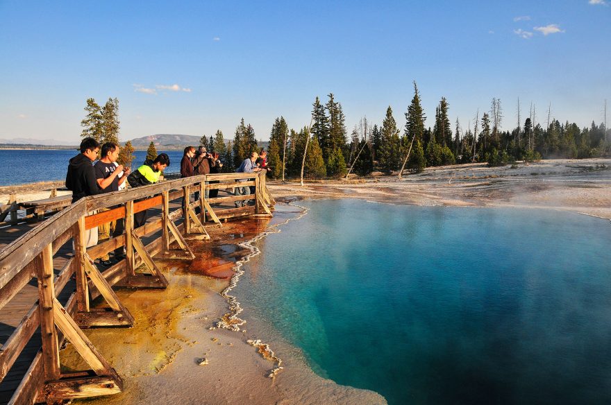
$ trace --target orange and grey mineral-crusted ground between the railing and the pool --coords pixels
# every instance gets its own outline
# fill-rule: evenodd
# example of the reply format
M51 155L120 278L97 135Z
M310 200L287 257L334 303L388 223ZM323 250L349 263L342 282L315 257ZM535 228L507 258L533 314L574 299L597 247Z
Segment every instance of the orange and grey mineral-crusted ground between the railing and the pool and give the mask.
M256 219L228 223L223 228L229 229L208 231L213 239L217 233L214 246L194 241L192 249L199 257L212 260L208 254L221 247L224 259L235 259L233 268L240 268L261 253L252 243L281 232L278 226L303 216L301 209L294 212L294 206L276 206L280 208L276 223L264 227ZM276 345L286 353L299 352L299 348L264 342L266 337L260 334L265 332L256 330L254 324L237 331L219 327L230 307L222 293L231 291L228 288L237 283L238 273L221 280L203 277L199 270L206 269L176 259L159 260L158 265L167 270L170 283L166 291L117 291L133 314L135 327L86 331L124 377L124 393L74 404L386 404L378 393L319 377L303 359L289 359L285 365L285 359L274 354ZM60 356L64 367L82 365L71 345Z

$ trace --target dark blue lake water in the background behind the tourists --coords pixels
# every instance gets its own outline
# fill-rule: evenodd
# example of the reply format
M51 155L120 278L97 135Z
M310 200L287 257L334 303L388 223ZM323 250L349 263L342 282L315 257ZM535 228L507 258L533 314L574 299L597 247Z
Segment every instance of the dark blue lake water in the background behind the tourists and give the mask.
M181 171L182 150L158 150L157 152L167 153L169 156L170 166L165 170L165 173ZM0 149L0 162L4 167L0 176L0 186L66 180L68 161L77 153L77 150ZM134 155L132 169L137 169L144 163L147 151L136 150Z

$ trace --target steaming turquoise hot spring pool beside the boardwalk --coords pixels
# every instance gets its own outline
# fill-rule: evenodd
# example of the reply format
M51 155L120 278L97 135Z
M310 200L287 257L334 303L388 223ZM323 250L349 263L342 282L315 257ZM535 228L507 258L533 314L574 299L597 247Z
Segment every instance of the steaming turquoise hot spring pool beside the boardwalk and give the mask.
M232 293L272 347L390 404L610 403L609 221L300 204Z

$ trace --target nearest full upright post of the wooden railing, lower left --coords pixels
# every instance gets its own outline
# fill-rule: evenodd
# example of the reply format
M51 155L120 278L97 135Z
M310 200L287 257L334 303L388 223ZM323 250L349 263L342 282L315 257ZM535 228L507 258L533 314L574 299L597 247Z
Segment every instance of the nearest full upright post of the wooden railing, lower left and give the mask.
M42 338L42 363L44 381L60 378L60 352L58 334L53 317L53 245L45 246L35 259L38 278L38 310L40 311L40 335Z

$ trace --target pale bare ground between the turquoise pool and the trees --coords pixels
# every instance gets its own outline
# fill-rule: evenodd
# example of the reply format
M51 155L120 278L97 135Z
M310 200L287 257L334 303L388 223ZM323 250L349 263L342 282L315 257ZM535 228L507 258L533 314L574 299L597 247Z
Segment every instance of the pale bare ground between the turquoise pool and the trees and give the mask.
M549 208L611 219L611 159L461 164L364 180L268 182L276 198L364 198L405 205Z

